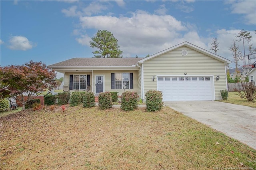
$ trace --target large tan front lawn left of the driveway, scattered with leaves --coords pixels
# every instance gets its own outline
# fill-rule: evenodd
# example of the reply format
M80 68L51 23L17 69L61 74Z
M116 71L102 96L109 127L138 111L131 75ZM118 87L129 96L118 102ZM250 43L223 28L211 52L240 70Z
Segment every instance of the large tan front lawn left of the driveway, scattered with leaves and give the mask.
M1 117L1 169L256 168L256 150L168 107Z

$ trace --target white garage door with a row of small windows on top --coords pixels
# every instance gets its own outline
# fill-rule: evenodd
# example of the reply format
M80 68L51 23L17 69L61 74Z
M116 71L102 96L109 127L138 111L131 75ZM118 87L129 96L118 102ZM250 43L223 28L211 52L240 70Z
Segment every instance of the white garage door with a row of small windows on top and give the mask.
M157 87L163 101L213 100L212 77L158 77Z

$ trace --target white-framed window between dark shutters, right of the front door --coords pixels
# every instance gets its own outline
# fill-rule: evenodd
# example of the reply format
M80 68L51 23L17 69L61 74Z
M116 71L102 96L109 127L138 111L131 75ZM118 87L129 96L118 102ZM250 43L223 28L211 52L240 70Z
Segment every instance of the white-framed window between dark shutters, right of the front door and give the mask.
M115 73L115 88L123 89L126 83L126 89L130 89L130 73Z

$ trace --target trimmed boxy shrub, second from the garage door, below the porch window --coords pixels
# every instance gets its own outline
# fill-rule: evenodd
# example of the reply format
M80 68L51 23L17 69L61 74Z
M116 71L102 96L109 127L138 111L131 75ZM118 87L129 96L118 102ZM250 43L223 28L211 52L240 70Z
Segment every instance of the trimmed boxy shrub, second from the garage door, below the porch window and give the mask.
M121 109L124 111L133 111L138 108L137 92L126 91L121 96Z

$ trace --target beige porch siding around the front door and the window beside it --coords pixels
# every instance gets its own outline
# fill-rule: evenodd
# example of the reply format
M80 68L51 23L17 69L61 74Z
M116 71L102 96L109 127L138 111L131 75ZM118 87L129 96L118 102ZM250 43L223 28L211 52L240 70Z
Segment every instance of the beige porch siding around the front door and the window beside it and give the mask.
M133 89L125 89L125 91L136 91L138 93L138 70L105 70L105 71L93 71L94 73L94 82L95 82L95 75L104 75L104 90L105 91L117 91L118 95L122 95L124 89L111 89L111 73L133 73ZM95 84L95 83L94 83ZM94 93L95 93L95 85L94 85ZM140 95L140 93L138 93Z

